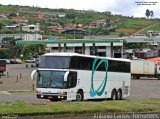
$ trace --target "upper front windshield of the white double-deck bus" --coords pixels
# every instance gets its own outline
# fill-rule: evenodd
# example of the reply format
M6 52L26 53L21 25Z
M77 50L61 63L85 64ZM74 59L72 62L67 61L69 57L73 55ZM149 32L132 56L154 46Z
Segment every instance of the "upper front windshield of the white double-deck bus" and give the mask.
M70 57L68 56L42 56L40 68L68 69Z

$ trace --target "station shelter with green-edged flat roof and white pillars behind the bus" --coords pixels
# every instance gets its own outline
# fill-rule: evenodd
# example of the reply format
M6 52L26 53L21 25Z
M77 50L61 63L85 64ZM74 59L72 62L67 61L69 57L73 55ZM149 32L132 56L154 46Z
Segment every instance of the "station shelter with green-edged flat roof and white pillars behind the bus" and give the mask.
M36 40L16 42L17 45L44 44L49 52L75 52L87 55L114 57L119 52L123 57L123 43L125 38L108 39L63 39L63 40ZM116 48L114 50L114 48Z

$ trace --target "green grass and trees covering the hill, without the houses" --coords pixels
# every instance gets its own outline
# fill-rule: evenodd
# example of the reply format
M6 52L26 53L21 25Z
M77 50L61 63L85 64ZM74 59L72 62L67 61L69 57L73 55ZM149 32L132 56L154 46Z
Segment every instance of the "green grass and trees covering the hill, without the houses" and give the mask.
M49 8L39 8L34 6L28 7L28 6L18 6L18 5L8 5L8 6L1 5L0 13L4 13L8 16L13 15L13 13L18 13L20 16L24 15L28 19L28 24L39 23L42 31L44 31L46 34L53 34L53 35L60 35L60 34L55 34L54 31L52 32L47 31L47 27L52 26L54 23L59 23L61 26L63 26L64 24L83 24L84 26L83 29L86 29L85 26L87 26L91 21L115 18L115 19L120 19L121 24L119 24L116 28L114 28L109 32L124 33L125 35L130 35L138 30L141 30L150 25L158 23L157 20L153 20L153 19L151 20L147 18L123 17L118 15L106 14L105 12L100 13L95 11L79 11L79 10L73 10L73 9L69 9L69 10L68 9L49 9ZM46 18L49 18L49 20L48 19L38 20L33 17L35 13L43 13ZM63 18L55 17L54 15L58 13L65 13L66 16ZM50 19L51 17L52 19ZM0 19L0 26L9 25L11 23L13 23L12 17L9 17L8 19ZM150 29L160 30L159 23L158 25ZM97 32L97 29L94 29L94 30ZM91 30L91 31L93 31L94 33L94 30ZM107 29L100 29L100 30L106 30L106 35L108 34ZM43 33L43 35L45 35L45 33Z

